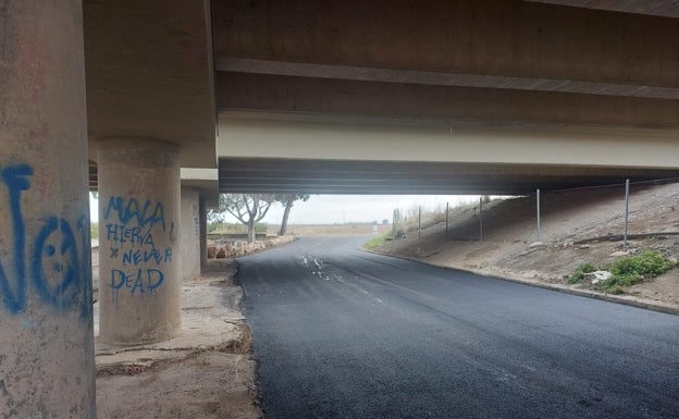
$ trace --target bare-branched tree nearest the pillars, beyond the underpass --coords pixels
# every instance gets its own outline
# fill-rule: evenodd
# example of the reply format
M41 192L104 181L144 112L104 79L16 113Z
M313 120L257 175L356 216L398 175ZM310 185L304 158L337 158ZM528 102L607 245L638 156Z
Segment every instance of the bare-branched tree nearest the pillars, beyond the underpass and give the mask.
M248 242L255 243L255 225L260 222L275 202L269 194L221 194L219 210L211 210L210 221L223 221L224 212L235 217L248 229Z

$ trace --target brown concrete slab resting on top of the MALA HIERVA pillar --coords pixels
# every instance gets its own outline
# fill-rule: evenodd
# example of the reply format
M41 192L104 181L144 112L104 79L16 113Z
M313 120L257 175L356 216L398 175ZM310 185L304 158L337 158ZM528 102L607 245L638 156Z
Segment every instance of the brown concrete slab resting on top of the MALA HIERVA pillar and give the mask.
M181 146L181 164L215 168L209 2L84 0L90 158L107 138Z

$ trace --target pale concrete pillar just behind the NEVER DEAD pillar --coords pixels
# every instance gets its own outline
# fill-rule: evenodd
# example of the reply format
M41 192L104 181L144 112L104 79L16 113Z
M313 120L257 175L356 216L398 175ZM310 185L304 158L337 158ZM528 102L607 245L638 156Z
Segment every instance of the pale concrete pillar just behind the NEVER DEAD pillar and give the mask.
M200 276L199 195L194 187L182 186L182 279Z

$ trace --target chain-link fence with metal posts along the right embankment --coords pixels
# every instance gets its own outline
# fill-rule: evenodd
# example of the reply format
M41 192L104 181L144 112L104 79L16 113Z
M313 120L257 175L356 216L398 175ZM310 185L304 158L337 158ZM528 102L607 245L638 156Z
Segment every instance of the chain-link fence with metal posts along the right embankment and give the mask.
M462 206L394 212L394 233L489 242L619 241L679 235L679 178L481 198ZM433 226L434 229L427 227ZM422 233L424 234L424 233Z

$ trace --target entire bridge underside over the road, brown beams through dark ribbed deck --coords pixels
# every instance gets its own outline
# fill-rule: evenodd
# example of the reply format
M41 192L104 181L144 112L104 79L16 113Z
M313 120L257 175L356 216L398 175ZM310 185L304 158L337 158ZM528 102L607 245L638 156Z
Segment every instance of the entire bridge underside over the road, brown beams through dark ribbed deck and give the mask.
M674 3L213 1L220 190L679 176Z

